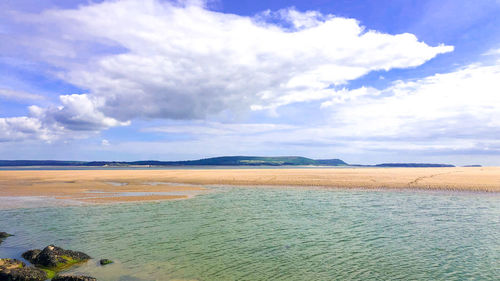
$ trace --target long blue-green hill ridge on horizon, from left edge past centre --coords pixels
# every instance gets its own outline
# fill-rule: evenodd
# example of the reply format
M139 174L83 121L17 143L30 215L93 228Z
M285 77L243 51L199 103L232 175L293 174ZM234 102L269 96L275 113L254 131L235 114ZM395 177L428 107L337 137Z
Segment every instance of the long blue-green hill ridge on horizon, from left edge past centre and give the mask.
M340 159L314 160L300 156L259 157L223 156L188 161L57 161L57 160L0 160L0 166L347 166Z

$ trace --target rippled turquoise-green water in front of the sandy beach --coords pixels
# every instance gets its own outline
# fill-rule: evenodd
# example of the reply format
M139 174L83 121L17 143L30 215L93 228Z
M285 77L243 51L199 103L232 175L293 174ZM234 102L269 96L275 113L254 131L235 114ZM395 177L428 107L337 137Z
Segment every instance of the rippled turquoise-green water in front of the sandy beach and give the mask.
M217 188L161 203L0 210L0 257L56 244L100 280L499 280L500 196ZM1 205L1 202L0 202Z

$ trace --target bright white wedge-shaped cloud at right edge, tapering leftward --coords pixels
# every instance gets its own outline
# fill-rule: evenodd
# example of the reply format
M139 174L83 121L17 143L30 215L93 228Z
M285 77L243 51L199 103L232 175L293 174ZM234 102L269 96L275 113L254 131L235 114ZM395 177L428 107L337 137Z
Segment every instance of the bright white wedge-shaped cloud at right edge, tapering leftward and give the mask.
M387 89L350 91L348 103L332 108L339 134L391 137L496 140L500 134L500 65L469 65ZM361 93L361 94L360 94ZM338 103L324 102L323 107Z

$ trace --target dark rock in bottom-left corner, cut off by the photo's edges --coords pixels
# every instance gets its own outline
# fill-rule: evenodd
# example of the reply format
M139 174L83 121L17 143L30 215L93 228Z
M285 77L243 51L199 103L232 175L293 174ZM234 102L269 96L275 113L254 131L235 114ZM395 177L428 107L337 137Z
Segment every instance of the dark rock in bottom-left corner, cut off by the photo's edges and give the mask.
M16 259L0 259L0 280L5 281L43 281L47 273Z

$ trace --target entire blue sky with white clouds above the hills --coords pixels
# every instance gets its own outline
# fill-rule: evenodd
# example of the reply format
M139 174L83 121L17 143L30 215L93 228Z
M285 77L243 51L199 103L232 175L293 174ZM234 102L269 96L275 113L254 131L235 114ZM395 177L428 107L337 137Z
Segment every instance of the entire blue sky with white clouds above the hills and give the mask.
M0 159L500 165L500 0L5 0Z

